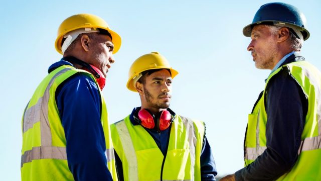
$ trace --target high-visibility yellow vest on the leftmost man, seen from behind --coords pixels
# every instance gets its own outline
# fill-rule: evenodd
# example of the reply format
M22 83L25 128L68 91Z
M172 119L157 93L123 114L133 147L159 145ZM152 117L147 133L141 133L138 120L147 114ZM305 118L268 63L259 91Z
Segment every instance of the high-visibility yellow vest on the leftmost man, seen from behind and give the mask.
M63 65L44 78L28 103L22 119L22 180L74 180L68 168L66 137L55 93L62 82L80 72L88 74L96 81L89 72ZM101 96L101 123L106 142L107 165L113 179L117 180L106 104L100 88L98 89Z

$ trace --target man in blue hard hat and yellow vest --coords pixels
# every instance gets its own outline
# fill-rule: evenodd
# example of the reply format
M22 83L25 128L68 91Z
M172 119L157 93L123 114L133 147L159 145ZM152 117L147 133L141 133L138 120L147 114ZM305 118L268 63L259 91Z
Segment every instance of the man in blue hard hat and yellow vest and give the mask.
M321 73L300 55L304 15L269 3L243 34L255 66L271 73L248 116L245 167L221 180L321 180Z

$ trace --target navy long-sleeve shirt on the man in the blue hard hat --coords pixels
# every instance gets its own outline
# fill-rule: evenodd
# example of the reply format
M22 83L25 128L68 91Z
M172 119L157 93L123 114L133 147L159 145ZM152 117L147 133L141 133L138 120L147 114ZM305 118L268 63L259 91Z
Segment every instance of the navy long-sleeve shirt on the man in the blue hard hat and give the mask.
M304 58L295 53L283 64L293 61ZM297 160L308 103L286 68L269 80L264 104L267 148L253 163L235 173L236 180L275 180L290 171Z

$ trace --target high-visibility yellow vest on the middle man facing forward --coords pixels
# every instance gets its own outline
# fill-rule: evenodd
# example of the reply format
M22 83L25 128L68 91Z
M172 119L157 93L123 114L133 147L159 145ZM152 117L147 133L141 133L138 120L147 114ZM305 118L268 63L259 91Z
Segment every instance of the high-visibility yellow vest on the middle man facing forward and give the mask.
M151 135L129 116L110 126L124 180L201 180L200 155L205 125L176 115L163 155Z

